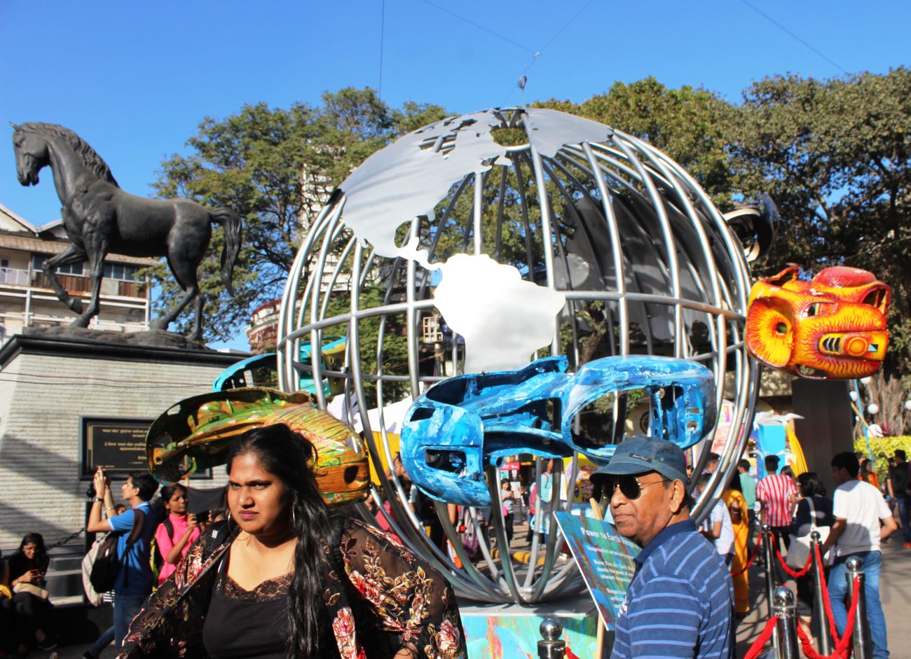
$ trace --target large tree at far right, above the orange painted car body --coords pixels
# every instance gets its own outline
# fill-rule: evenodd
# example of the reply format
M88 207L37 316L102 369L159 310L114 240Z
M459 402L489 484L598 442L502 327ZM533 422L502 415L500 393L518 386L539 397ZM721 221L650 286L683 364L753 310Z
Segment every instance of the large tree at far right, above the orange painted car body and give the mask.
M760 276L789 262L847 265L893 289L892 345L872 387L895 431L911 386L911 70L831 80L774 76L744 93L732 123L735 185L765 191L782 213ZM904 382L902 381L904 380ZM907 427L907 426L906 426Z

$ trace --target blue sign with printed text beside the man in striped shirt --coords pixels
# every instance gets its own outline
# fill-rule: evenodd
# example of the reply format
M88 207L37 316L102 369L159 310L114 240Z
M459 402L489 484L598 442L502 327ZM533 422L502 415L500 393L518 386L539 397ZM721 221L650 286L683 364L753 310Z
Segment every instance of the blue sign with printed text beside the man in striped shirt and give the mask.
M608 522L571 512L555 512L554 517L598 606L601 619L613 629L636 573L636 563L632 559L640 548L620 536Z

